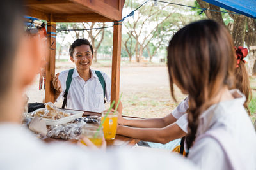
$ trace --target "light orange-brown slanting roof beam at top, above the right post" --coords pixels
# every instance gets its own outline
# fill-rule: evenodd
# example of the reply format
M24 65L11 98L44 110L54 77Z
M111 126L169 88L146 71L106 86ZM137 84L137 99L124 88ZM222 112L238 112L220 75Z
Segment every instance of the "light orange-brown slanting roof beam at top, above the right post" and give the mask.
M92 0L70 0L70 1L86 6L88 9L92 10L93 12L98 13L111 20L122 19L122 10L113 8L113 6L110 6L109 4L104 3L104 1L92 1Z

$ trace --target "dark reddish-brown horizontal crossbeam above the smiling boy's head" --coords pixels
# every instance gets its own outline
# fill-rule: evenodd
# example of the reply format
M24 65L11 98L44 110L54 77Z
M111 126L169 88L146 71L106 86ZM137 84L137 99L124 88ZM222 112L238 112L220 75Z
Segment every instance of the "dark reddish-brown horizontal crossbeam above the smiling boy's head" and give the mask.
M111 19L102 17L97 13L55 14L53 17L55 22L112 22Z

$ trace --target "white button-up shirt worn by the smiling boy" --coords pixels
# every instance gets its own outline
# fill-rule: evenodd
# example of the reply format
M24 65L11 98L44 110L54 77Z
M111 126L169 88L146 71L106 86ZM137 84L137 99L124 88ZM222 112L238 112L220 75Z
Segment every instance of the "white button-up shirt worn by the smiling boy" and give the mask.
M58 97L57 101L61 97L63 97L66 90L68 71L69 70L62 71L59 75L62 92ZM83 78L79 76L77 69L74 69L72 81L68 90L66 108L74 110L93 111L99 113L105 110L102 85L100 84L99 78L95 71L90 69L90 72L91 78L89 78L87 81L84 81ZM109 102L111 95L111 79L106 73L103 73L101 71L100 73L102 74L106 83L105 96L107 101Z

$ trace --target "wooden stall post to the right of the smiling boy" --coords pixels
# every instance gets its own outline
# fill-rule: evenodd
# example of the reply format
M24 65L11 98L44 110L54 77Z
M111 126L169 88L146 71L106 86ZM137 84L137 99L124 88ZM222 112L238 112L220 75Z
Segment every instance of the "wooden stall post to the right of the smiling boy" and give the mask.
M113 100L118 101L120 90L120 62L121 62L121 22L114 25L113 31L113 55L112 55L112 77L111 77L111 103ZM113 106L115 108L116 106Z

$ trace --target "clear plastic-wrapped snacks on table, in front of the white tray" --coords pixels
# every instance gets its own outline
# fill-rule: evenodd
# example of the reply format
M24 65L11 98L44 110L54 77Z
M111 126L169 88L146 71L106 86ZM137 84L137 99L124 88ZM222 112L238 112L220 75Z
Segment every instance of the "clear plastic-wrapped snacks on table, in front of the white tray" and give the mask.
M79 139L83 124L65 124L53 127L47 134L48 137L56 139Z

